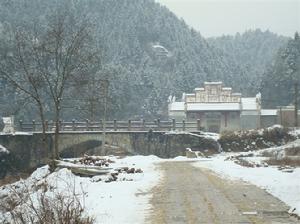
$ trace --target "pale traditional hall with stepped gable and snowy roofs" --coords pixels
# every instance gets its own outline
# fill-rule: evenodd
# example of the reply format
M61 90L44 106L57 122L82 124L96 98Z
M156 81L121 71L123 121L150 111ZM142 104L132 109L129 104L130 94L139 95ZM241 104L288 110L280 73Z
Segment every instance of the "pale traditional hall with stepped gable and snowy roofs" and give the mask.
M261 97L242 97L223 87L222 82L205 82L204 87L194 93L183 93L182 101L169 99L169 117L200 120L200 126L211 132L223 130L256 129L261 127L261 117L265 116L266 126L276 123L277 110L261 110Z

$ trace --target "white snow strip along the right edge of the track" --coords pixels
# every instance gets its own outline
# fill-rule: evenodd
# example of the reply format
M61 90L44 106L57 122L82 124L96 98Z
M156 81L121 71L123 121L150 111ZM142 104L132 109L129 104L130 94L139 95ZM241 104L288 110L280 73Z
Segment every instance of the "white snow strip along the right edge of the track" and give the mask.
M223 178L243 180L257 185L289 205L290 211L300 215L300 168L295 168L292 173L286 173L270 166L243 167L234 161L225 160L229 155L238 155L238 153L222 153L210 160L196 162L194 165L208 168ZM261 158L252 157L251 160L257 160L259 163Z

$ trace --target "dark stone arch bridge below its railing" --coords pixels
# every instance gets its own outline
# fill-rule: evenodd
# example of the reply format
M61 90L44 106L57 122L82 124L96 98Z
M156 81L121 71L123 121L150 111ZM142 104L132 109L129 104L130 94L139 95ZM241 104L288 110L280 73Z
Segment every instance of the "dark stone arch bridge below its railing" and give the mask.
M43 142L42 133L0 135L0 144L11 152L13 167L31 169L47 163L53 149L54 134L48 132ZM185 149L216 152L218 142L202 132L163 131L110 131L105 134L105 150L102 150L103 133L62 132L59 136L59 152L64 158L96 155L157 155L172 158L185 155Z

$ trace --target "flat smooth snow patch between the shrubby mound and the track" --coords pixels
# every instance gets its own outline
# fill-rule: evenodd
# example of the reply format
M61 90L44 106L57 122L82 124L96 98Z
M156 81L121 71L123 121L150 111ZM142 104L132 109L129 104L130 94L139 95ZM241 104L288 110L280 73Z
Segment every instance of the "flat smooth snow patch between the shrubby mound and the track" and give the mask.
M143 223L151 196L146 193L159 181L159 173L154 169L156 161L159 158L155 156L133 156L120 160L121 166L135 166L143 170L141 174L131 175L134 176L133 181L91 184L87 178L79 178L87 182L85 200L89 213L102 223Z

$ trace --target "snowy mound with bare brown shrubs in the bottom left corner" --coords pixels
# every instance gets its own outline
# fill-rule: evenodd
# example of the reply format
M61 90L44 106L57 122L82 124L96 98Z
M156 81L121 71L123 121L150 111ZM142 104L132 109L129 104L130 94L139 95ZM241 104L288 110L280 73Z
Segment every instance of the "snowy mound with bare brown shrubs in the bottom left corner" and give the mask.
M61 173L68 173L62 171ZM84 192L70 180L65 189L56 185L56 173L47 166L37 169L28 179L1 187L0 222L92 224L94 219L85 213ZM49 177L49 179L47 179Z

